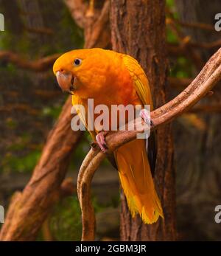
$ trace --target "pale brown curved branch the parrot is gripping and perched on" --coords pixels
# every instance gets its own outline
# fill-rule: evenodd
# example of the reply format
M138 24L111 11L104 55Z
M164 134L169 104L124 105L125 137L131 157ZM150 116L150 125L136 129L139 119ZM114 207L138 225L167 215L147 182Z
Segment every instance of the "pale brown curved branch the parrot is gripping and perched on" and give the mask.
M180 116L183 112L189 110L195 103L202 99L208 91L221 79L221 48L208 60L201 70L200 74L192 83L184 89L177 97L169 101L160 108L155 109L150 114L152 125L151 130L158 126L171 122L175 117ZM133 139L136 139L138 132L143 132L147 125L138 120L133 120L127 124L135 125L135 131L116 131L109 132L106 136L109 151L115 151L120 146ZM129 129L130 130L130 129ZM94 240L95 216L91 204L91 180L97 167L99 167L105 154L97 148L91 148L86 156L83 165L80 168L78 177L77 192L80 200L80 207L83 218L83 241Z

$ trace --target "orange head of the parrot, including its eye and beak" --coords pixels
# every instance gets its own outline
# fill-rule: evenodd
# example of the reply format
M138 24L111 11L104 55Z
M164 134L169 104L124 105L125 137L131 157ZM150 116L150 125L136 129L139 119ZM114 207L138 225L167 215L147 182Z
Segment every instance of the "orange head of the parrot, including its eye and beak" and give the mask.
M96 97L114 75L114 61L108 52L98 48L76 49L61 55L53 66L60 88L82 98Z

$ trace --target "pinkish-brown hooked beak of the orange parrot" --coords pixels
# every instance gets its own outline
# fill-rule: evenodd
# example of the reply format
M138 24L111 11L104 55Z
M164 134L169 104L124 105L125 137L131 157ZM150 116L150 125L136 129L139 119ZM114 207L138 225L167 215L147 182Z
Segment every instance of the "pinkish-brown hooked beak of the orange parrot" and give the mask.
M74 77L71 72L65 72L63 70L56 72L57 83L62 89L62 91L67 91L69 94L72 94L72 91L76 89L74 87Z

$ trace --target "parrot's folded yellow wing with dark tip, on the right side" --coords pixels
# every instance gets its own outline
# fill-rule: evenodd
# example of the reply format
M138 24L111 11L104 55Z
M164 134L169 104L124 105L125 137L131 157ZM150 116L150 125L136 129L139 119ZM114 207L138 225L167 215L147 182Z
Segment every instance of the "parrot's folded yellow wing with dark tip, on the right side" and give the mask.
M138 94L141 103L144 105L150 105L150 110L153 109L152 97L149 82L147 76L144 73L144 70L139 65L138 61L129 55L123 55L124 65L127 67L127 70L130 73L130 76L133 79L134 86L136 88L136 93ZM155 131L151 132L150 137L146 141L147 145L147 155L151 166L151 172L155 170L155 159L157 152L157 143Z

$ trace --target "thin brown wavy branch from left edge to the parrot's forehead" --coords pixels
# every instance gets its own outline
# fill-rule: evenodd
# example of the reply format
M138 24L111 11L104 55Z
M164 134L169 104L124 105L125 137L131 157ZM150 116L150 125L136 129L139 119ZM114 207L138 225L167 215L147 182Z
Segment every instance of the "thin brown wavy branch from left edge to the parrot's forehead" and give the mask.
M25 60L20 55L10 51L0 51L0 60L13 63L21 69L29 69L35 72L46 71L51 69L52 64L60 56L60 54L50 55L39 60Z

